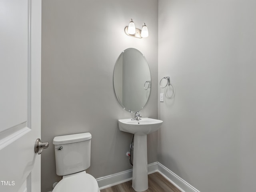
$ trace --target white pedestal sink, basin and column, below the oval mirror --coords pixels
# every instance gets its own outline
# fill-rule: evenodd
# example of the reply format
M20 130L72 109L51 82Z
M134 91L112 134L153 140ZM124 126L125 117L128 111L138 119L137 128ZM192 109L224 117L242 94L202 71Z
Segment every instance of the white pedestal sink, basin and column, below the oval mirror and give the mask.
M121 131L134 134L132 187L137 192L148 189L147 134L158 130L162 123L162 120L151 118L118 120Z

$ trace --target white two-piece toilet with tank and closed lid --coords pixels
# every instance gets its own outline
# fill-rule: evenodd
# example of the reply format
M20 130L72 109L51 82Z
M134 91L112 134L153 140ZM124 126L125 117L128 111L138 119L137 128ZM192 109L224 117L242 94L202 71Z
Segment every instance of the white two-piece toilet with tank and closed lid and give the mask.
M62 180L52 192L100 192L96 179L85 171L90 167L91 138L90 133L54 137L56 173Z

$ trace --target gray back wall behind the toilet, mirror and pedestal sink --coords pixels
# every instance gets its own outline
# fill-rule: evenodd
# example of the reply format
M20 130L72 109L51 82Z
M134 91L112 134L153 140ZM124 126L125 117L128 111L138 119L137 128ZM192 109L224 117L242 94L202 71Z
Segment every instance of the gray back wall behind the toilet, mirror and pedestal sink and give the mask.
M137 28L146 22L149 37L126 36L130 18ZM95 178L132 168L126 152L132 134L121 132L117 120L132 118L119 105L113 88L116 60L126 48L140 50L148 60L152 89L142 116L157 118L157 0L42 1L42 192L52 190L56 175L54 136L90 132L91 166ZM157 132L148 136L148 163L157 161Z

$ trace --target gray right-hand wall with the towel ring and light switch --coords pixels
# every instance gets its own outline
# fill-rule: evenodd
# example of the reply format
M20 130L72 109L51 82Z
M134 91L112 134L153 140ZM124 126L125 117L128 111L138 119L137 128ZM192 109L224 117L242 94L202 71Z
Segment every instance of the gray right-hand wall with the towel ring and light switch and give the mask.
M256 2L159 0L160 163L202 192L255 191ZM253 163L254 162L254 163Z

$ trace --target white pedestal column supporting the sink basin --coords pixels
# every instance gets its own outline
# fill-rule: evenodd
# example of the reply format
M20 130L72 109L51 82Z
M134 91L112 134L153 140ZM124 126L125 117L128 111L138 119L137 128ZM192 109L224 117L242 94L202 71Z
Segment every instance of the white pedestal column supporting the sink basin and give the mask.
M148 189L147 135L134 135L132 188L137 192Z

